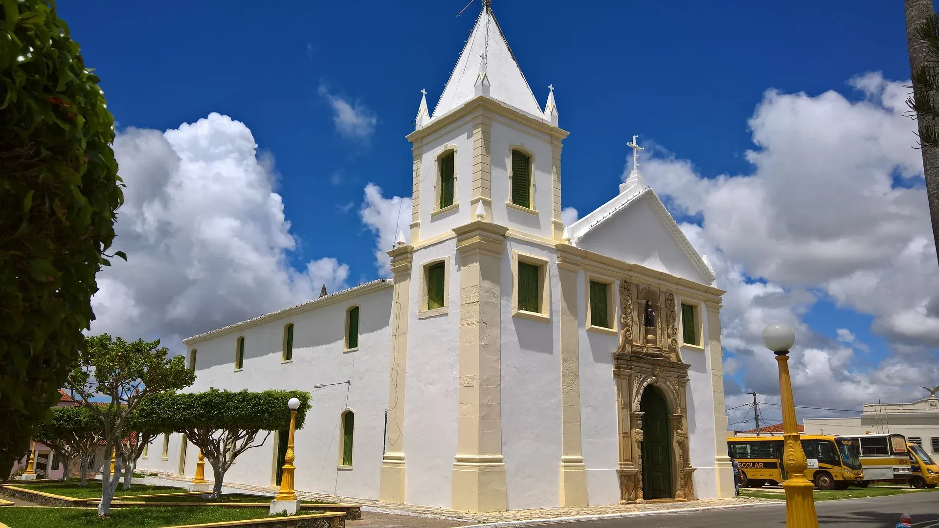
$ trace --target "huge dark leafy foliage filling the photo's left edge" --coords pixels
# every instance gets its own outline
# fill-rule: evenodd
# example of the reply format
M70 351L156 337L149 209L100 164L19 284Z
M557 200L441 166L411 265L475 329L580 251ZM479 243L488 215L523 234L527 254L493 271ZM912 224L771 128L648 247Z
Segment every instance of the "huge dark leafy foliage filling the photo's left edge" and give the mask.
M109 265L124 198L98 83L53 0L0 1L3 475L58 401Z

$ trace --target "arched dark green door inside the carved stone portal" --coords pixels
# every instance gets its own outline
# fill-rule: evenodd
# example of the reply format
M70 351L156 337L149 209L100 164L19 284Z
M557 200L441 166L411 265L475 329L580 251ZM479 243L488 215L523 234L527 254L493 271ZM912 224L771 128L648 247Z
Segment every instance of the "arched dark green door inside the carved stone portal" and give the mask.
M639 411L645 412L642 415L642 498L673 498L669 405L658 387L646 387Z

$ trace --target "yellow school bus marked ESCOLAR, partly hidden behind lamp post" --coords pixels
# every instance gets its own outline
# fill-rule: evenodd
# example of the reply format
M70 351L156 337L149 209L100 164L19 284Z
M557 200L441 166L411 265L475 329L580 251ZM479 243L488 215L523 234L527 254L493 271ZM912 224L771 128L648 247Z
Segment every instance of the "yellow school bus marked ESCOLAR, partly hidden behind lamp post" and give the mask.
M786 479L781 436L731 436L727 439L727 449L740 465L741 486L760 488L767 482L776 484ZM864 480L851 439L802 435L802 450L808 458L806 476L818 489L847 489Z

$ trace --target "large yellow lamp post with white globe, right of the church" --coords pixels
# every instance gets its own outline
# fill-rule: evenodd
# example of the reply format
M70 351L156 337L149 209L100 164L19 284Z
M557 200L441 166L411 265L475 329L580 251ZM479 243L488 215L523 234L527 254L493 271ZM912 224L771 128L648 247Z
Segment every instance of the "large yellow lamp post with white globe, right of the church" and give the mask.
M783 467L786 480L786 528L818 528L815 515L814 485L806 477L808 460L802 450L799 429L795 422L793 382L789 378L789 349L795 344L795 333L781 322L771 322L762 332L763 345L776 353L779 365L779 398L782 400L782 437L785 443Z

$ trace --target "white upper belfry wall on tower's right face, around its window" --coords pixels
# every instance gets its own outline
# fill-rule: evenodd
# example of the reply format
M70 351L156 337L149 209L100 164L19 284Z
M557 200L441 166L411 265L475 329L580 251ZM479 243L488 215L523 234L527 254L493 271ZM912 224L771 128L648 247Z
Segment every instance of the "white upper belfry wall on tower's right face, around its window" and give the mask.
M522 125L509 125L500 116L492 118L492 217L496 224L506 225L522 232L552 238L551 208L551 140L541 132L526 130ZM512 198L509 184L509 167L512 165L512 148L521 147L534 157L534 209L531 213L514 210L505 205Z

